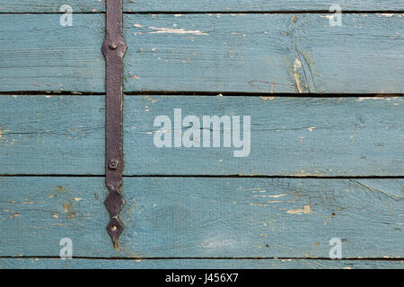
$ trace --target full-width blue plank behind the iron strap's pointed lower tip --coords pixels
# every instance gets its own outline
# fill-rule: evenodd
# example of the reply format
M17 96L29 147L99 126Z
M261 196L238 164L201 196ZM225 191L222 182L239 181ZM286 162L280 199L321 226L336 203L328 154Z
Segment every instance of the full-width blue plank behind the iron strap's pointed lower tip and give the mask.
M125 178L119 250L104 178L0 178L0 256L404 258L403 179Z

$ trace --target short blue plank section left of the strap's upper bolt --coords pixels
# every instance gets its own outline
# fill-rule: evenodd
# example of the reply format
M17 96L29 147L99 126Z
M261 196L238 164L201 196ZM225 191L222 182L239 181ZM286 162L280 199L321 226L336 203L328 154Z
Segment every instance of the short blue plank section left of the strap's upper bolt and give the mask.
M0 14L0 91L104 91L104 15L59 17Z

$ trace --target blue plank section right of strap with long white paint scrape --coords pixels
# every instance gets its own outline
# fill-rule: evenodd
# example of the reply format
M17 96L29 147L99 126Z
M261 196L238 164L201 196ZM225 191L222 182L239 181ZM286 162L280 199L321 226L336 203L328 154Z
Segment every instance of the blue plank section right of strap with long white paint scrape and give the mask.
M403 14L127 14L125 91L403 93Z

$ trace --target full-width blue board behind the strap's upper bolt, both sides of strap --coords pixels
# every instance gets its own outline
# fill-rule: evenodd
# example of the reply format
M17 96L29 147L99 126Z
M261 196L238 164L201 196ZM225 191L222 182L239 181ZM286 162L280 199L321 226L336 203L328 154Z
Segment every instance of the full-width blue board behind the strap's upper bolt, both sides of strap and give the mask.
M59 16L0 15L0 91L104 91L103 15ZM127 14L124 88L403 93L402 17Z

